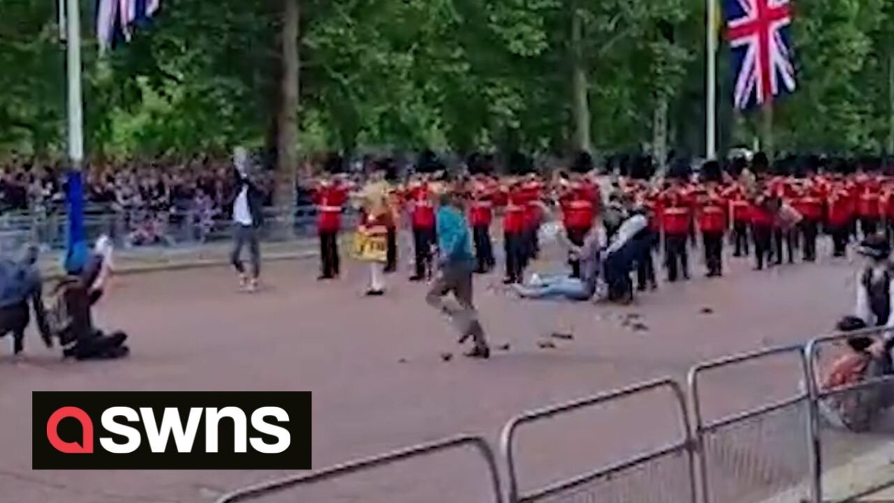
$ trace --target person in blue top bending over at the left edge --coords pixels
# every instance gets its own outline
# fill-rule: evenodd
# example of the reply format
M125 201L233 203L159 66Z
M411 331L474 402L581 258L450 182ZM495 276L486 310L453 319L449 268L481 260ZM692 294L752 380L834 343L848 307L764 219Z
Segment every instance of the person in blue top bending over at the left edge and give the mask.
M0 262L0 337L13 333L13 354L24 350L25 328L30 322L29 303L34 306L41 336L45 336L46 314L41 299L41 278L37 268L38 247L29 245L18 262Z

